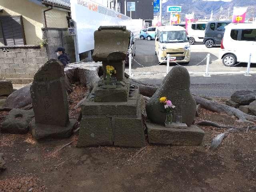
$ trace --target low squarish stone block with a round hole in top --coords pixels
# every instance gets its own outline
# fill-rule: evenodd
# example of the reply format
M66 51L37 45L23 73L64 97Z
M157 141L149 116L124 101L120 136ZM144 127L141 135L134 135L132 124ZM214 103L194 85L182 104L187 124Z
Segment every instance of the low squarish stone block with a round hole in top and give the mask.
M26 134L28 132L28 124L33 117L33 110L12 109L1 125L1 132Z

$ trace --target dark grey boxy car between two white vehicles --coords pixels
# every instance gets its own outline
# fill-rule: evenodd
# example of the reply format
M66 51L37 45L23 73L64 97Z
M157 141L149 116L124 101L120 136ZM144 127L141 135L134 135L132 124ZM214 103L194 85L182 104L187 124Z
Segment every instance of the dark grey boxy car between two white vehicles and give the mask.
M212 48L214 45L220 45L225 32L225 26L228 24L230 24L230 21L208 22L203 41L207 48Z

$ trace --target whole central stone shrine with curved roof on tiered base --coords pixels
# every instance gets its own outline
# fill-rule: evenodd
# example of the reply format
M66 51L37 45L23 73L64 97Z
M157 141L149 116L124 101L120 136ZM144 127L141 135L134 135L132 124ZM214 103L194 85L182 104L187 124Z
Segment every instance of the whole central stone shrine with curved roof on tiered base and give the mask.
M104 77L82 104L77 146L145 146L138 87L124 76L131 32L125 26L100 26L94 32L92 58L102 61ZM106 84L106 66L116 70L116 84ZM132 92L133 94L130 94Z

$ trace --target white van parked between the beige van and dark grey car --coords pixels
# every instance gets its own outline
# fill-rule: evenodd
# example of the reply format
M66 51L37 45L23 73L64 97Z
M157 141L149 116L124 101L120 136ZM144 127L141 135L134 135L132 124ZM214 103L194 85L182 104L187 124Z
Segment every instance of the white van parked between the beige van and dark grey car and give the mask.
M188 24L189 44L202 43L204 41L204 32L206 28L206 21L192 22Z

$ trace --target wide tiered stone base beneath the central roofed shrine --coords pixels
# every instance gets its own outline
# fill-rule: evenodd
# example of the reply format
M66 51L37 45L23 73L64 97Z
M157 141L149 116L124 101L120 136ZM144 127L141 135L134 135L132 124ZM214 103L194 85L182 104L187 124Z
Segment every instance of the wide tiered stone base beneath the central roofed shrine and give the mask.
M95 102L93 97L94 91L82 104L78 147L145 146L138 88L127 102Z

